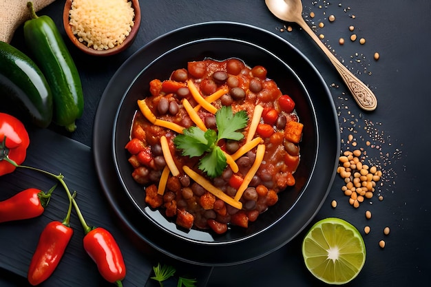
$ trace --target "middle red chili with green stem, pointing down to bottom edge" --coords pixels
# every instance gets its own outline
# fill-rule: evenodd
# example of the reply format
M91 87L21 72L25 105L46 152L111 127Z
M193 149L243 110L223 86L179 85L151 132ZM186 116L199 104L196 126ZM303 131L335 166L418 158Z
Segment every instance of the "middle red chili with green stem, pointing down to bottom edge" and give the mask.
M70 228L70 213L72 212L72 198L63 222L48 223L39 237L36 251L28 268L27 279L33 286L48 279L59 265L67 244L73 235Z

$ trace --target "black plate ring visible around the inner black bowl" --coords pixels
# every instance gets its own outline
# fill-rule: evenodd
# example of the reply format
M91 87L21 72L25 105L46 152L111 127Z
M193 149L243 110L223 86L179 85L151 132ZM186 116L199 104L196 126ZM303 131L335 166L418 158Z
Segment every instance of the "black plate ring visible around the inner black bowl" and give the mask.
M165 52L176 50L180 45L209 38L223 39L223 41L231 39L229 41L235 43L240 41L248 45L257 45L288 63L306 86L310 94L311 106L316 107L316 131L318 131L317 138L313 140L313 149L317 158L315 167L311 167L311 171L317 170L318 173L311 176L307 187L313 192L303 193L297 198L295 204L289 209L288 216L273 220L270 234L260 232L253 237L244 237L247 240L233 240L229 241L229 244L222 245L207 244L211 240L204 240L205 244L200 244L200 238L183 240L181 237L170 236L132 206L131 200L123 191L122 184L116 176L111 152L113 132L109 128L114 126L114 115L123 96L145 67L151 66L154 59ZM229 265L257 259L275 251L295 237L313 219L325 200L335 177L339 152L339 129L333 100L322 76L310 61L290 43L275 34L251 25L227 22L200 23L180 28L151 41L131 56L114 74L105 89L96 113L93 140L99 180L109 203L125 226L140 240L162 253L186 262L205 265ZM304 160L302 164L304 162L313 165L313 161L306 163Z

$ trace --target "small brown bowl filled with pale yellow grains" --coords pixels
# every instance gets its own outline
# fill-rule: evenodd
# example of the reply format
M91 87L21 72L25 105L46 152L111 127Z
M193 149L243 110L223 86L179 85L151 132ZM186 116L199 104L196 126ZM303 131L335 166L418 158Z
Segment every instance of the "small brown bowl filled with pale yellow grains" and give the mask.
M117 5L116 1L120 5ZM139 1L109 2L94 1L94 6L90 5L91 1L85 5L78 5L78 0L65 2L63 10L65 32L72 43L86 54L110 56L123 52L133 43L138 33ZM115 6L115 9L111 9L112 13L109 12L110 6Z

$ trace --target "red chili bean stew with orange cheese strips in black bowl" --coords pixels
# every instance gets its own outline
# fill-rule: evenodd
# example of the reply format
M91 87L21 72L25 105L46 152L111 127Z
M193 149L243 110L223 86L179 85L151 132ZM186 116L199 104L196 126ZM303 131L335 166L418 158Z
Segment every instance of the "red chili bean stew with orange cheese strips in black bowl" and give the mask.
M282 94L266 68L240 59L191 61L169 79L149 83L138 100L125 146L132 177L145 187L145 202L177 226L226 233L247 228L295 185L302 123L292 98ZM245 111L240 140L214 142L226 164L217 176L200 169L202 156L184 156L175 138L197 127L218 131L216 114ZM192 144L191 144L192 146ZM288 191L286 191L288 192Z

